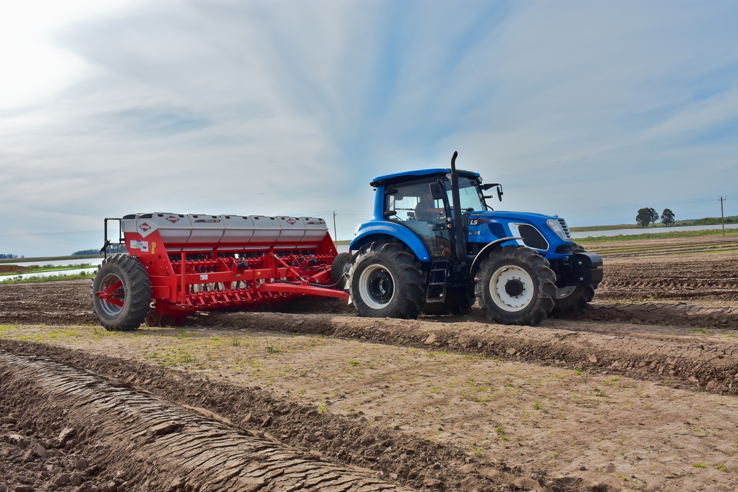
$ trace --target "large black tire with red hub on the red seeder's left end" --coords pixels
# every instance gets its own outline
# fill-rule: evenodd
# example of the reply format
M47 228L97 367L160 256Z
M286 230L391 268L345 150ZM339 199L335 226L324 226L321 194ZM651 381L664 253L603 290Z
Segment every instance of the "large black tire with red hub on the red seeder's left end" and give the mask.
M103 260L92 280L92 308L106 330L139 328L150 305L151 279L136 257L113 254Z

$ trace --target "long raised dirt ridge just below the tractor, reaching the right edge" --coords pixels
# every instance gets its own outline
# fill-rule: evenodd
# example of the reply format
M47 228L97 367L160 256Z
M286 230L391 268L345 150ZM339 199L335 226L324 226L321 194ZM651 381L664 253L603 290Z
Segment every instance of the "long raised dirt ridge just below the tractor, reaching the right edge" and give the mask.
M279 330L367 339L411 347L461 350L542 361L587 370L607 369L721 394L738 394L738 342L700 342L679 336L603 336L541 327L286 313L213 316L222 328Z

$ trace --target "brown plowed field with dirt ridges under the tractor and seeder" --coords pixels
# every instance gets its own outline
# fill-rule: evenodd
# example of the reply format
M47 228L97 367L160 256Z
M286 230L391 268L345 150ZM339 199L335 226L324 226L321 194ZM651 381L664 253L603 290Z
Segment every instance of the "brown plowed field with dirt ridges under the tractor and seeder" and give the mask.
M738 254L692 239L587 245L596 302L539 327L303 302L109 333L89 281L0 285L0 492L734 490Z

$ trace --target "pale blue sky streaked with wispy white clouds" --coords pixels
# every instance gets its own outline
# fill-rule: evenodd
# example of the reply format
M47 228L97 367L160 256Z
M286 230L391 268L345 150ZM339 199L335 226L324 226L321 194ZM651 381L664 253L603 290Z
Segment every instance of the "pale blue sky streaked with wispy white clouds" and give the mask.
M314 215L424 167L570 226L738 215L738 3L0 1L0 253L135 212ZM331 231L332 232L332 231Z

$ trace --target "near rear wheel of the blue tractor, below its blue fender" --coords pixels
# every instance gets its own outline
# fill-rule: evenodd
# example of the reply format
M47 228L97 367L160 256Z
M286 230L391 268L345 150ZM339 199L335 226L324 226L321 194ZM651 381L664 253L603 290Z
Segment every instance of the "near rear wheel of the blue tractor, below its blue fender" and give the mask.
M410 249L379 240L351 259L348 289L359 316L415 319L425 304L426 280Z

